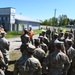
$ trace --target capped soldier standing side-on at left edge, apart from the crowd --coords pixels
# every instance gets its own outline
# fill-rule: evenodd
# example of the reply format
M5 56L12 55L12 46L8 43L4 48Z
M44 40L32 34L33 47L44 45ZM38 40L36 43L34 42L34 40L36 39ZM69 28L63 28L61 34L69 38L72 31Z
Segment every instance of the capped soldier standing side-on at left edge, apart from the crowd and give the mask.
M5 38L6 32L1 31L1 38L0 38L0 50L3 53L5 63L8 65L9 61L9 41Z

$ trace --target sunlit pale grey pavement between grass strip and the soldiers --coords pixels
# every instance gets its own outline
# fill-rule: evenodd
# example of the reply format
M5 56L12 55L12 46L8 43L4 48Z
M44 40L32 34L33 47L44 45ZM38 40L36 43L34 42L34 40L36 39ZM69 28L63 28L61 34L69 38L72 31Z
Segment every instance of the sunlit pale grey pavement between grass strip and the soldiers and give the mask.
M34 35L33 39L38 38L39 35ZM15 50L16 48L19 48L21 43L20 37L17 38L8 38L8 41L10 42L10 51Z

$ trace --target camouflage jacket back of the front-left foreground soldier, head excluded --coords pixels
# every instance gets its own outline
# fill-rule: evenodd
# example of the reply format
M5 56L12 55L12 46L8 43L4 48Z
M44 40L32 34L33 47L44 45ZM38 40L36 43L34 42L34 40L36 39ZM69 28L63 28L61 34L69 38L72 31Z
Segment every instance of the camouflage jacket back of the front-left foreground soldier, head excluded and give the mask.
M38 59L27 56L22 56L16 63L14 75L40 75L41 64Z

